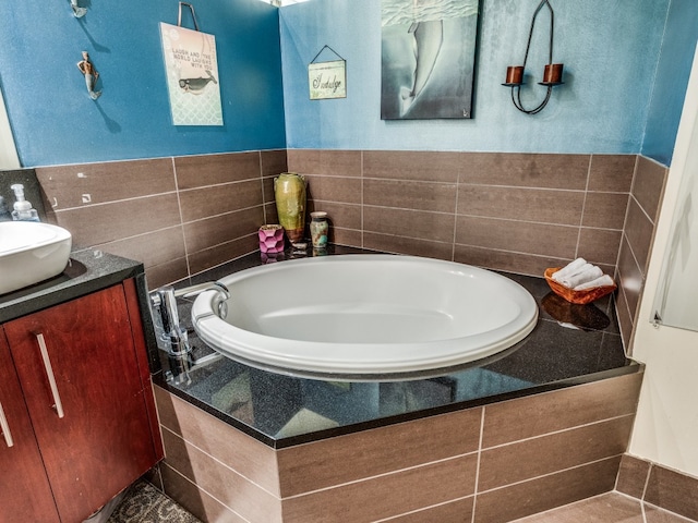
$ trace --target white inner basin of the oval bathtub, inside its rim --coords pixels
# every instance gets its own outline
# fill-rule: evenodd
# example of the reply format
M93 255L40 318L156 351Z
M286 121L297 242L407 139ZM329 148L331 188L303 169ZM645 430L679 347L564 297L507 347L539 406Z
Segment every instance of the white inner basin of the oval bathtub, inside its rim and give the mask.
M280 270L224 278L234 289L226 321L296 341L408 343L492 331L521 313L521 300L504 297L512 291L509 281L483 278L479 269L434 278L426 267L416 270L389 257L361 258L368 262L342 269L339 278L337 266L350 263L338 258L297 266L290 281L291 273ZM344 297L337 302L336 296Z

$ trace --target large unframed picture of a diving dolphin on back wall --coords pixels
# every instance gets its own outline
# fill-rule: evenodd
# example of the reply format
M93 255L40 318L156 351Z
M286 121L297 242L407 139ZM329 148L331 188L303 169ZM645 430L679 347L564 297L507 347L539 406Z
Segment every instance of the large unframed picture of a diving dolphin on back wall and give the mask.
M479 0L382 0L381 118L472 118Z

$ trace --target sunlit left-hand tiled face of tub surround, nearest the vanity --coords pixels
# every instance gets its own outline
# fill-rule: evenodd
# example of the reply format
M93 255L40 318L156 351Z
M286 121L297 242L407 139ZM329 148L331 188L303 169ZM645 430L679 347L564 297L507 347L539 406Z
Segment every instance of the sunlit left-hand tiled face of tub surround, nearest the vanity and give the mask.
M202 521L281 521L275 451L154 387L165 494Z

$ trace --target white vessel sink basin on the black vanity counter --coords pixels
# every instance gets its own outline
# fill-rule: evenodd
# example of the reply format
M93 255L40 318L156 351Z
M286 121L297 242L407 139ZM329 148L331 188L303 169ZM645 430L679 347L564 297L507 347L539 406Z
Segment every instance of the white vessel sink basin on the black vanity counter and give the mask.
M72 236L62 227L36 221L0 222L0 294L60 275Z

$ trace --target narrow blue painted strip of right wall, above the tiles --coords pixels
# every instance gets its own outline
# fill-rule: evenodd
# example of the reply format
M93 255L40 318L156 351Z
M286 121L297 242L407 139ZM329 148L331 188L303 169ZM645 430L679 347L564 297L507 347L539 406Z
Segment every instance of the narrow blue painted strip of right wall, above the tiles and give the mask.
M669 166L698 39L696 0L672 0L657 68L642 154Z

